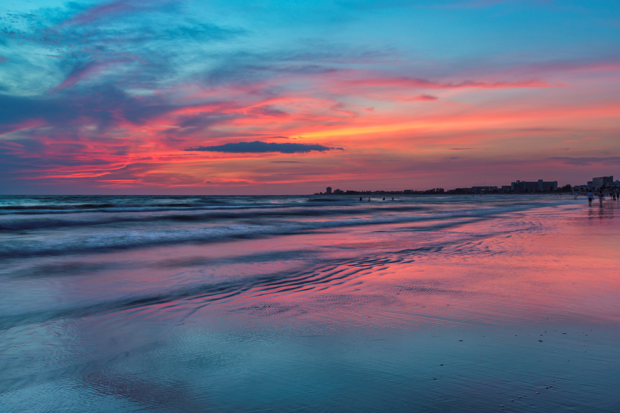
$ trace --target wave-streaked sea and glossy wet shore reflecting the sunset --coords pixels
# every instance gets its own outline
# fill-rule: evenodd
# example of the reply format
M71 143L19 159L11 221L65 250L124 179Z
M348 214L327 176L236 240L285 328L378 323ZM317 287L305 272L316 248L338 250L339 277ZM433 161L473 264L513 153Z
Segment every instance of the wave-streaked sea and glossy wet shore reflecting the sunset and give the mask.
M620 202L395 198L1 197L3 408L618 411Z

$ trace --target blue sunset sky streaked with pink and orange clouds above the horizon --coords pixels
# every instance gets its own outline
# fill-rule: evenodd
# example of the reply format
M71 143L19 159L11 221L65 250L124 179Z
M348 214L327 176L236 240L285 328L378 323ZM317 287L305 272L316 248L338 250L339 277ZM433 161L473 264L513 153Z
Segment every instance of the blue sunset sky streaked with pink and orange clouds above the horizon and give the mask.
M620 178L620 2L7 0L1 194Z

